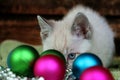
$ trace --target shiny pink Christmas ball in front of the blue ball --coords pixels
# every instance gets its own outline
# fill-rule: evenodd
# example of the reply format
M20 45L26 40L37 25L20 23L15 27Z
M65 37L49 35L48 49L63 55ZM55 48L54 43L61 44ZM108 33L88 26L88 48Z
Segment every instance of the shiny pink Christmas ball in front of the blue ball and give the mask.
M79 80L114 80L110 71L102 66L94 66L86 69Z

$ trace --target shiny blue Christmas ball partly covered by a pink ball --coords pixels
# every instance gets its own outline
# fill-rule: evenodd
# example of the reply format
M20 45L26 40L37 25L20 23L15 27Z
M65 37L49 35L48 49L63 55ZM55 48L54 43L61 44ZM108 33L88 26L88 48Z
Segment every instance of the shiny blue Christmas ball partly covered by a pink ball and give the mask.
M73 62L72 72L76 78L79 78L81 73L87 68L93 66L102 66L102 61L98 56L92 53L80 54Z

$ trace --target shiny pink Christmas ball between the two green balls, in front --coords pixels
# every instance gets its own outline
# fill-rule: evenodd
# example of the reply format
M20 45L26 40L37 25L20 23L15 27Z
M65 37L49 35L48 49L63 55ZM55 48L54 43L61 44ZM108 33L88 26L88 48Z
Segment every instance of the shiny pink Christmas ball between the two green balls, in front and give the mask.
M56 55L44 55L35 62L34 75L45 80L63 80L66 64Z

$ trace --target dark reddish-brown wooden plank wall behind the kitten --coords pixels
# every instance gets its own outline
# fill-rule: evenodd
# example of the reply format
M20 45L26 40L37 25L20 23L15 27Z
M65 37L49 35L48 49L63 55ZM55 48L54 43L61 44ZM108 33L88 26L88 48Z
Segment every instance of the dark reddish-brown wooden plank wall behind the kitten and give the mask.
M61 19L77 4L103 15L115 32L116 55L120 55L120 0L0 0L0 42L14 39L41 44L36 15Z

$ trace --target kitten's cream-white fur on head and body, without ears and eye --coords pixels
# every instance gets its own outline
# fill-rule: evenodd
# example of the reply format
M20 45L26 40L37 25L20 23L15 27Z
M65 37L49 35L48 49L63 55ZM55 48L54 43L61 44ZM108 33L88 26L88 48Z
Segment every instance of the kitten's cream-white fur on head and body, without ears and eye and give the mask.
M71 35L71 26L79 12L83 13L91 24L91 39ZM95 11L87 7L76 6L63 20L55 21L52 27L53 31L42 41L44 50L56 49L66 57L71 52L80 54L91 52L99 56L105 67L110 65L114 53L114 34L106 20Z

